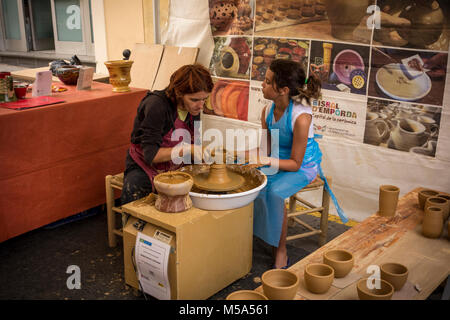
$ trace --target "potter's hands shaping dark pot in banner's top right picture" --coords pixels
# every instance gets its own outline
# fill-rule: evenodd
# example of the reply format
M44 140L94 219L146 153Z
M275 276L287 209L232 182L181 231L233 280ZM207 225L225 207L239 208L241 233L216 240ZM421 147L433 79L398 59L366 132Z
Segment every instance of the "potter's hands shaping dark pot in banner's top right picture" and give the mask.
M409 28L411 21L400 18L396 15L390 15L386 12L380 12L380 29L375 29L374 39L384 45L404 46L408 43L397 32L398 29Z

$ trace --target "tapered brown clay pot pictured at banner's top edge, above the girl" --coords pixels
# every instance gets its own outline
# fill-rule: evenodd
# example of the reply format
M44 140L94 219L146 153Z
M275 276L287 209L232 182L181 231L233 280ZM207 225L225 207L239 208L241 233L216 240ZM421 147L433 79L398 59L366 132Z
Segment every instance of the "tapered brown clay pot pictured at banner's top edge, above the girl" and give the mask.
M353 31L366 15L370 0L325 0L331 35L341 40L353 40Z

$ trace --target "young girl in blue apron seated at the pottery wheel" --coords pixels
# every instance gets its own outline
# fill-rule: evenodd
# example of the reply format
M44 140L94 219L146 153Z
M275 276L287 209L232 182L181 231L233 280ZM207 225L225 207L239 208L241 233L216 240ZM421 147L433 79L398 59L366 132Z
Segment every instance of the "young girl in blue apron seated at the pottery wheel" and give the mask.
M306 87L306 88L305 88ZM270 157L265 164L278 165L278 173L267 174L267 186L260 192L254 204L254 234L274 247L273 268L287 268L286 250L287 212L284 199L312 182L319 173L322 153L314 140L311 98L320 96L320 81L306 75L295 61L276 59L267 69L262 91L264 98L272 100L272 106L262 111L261 125L268 130L267 146ZM278 134L275 135L275 131ZM278 141L277 141L278 140ZM273 170L272 168L270 170ZM346 220L335 201L341 219Z

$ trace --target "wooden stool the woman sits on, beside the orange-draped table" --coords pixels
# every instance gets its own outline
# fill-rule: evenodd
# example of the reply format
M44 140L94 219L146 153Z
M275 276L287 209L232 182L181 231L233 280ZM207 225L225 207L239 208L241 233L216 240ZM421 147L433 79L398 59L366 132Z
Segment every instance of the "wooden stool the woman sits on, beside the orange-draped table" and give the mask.
M116 213L122 214L122 209L115 206L114 189L122 190L123 187L123 172L114 176L107 175L105 178L106 185L106 215L108 221L108 242L110 247L117 245L116 236L123 237L122 226L116 227Z

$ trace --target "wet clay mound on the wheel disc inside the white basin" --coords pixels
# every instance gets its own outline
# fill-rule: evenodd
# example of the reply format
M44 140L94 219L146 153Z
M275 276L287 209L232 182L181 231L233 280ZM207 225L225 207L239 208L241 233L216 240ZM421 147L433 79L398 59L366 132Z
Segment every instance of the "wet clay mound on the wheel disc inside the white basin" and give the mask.
M194 176L194 185L207 191L231 191L240 188L244 182L243 176L228 170L225 164L212 164L209 172Z

